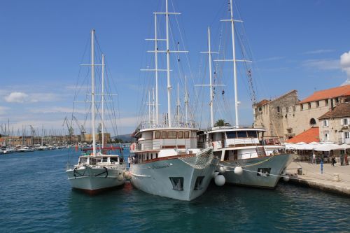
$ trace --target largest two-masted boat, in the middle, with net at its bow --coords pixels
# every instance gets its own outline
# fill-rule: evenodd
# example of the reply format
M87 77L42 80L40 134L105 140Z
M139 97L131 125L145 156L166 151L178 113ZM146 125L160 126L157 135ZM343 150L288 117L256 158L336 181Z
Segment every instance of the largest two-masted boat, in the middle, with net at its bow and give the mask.
M193 121L172 119L170 53L186 52L172 51L169 48L169 13L168 1L165 1L165 13L154 13L155 17L155 119L151 117L141 122L133 136L136 143L130 146L132 162L130 173L132 185L151 195L169 197L190 201L200 197L208 188L216 169L216 158L213 148L198 146L197 124ZM158 38L157 17L165 15L166 38ZM158 49L158 41L165 41L166 50ZM167 55L167 69L158 69L158 53ZM158 120L158 72L167 73L167 114L165 120ZM179 114L179 112L178 112ZM149 114L151 115L151 114Z

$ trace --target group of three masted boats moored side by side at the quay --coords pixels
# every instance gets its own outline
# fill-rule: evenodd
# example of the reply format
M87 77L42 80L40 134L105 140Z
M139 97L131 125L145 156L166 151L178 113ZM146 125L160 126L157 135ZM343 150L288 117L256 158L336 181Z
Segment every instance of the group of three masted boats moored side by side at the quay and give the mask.
M293 159L293 154L287 153L285 146L278 139L266 139L265 129L247 128L239 126L237 99L237 71L235 54L235 22L232 13L232 0L229 3L230 22L232 33L232 59L216 60L218 62L232 62L235 83L235 126L214 125L213 96L215 84L211 77L210 29L208 29L209 55L209 86L210 87L210 115L209 129L201 130L197 122L190 119L188 109L187 83L185 84L185 113L181 115L179 109L179 94L176 102L176 113L172 114L171 91L172 83L170 71L170 55L172 52L180 54L186 50L172 50L169 45L169 17L179 15L170 13L168 1L165 0L165 12L154 13L155 17L155 50L154 68L144 69L155 74L155 87L153 99L148 90L148 118L139 123L132 136L136 139L130 145L129 166L120 155L110 155L102 139L102 147L98 150L95 135L95 112L97 111L94 86L94 30L91 31L91 119L93 143L90 152L84 151L78 159L78 164L68 164L66 174L72 188L87 192L98 192L106 188L123 185L129 179L139 190L152 195L169 197L172 199L190 201L200 197L208 188L214 178L216 185L225 183L235 185L248 185L260 188L274 188L279 178L285 176L286 167ZM158 17L165 15L164 38L158 38ZM157 26L158 25L158 26ZM158 43L165 43L160 47ZM178 43L179 45L179 43ZM164 49L163 49L164 48ZM158 54L163 54L167 64L165 69L158 68ZM176 57L179 62L179 57ZM104 129L104 55L102 55L102 129ZM158 73L167 73L167 113L160 120L158 109ZM155 94L154 94L155 89ZM178 84L179 93L179 84ZM224 94L224 93L223 93ZM152 108L152 110L151 110ZM102 135L103 132L102 132ZM285 177L288 180L287 177Z

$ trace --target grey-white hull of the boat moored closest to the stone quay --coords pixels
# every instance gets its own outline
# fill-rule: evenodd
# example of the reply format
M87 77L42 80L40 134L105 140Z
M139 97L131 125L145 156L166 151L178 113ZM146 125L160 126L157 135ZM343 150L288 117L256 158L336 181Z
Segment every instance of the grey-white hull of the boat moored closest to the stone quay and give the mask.
M226 183L259 188L274 188L276 187L279 178L281 178L281 175L283 175L283 171L285 171L286 167L288 167L292 160L293 154L281 154L274 155L273 157L256 157L246 160L221 162L221 164L224 166L239 166L244 169L243 174L241 175L235 174L233 171L234 169L228 169L228 171L223 174ZM261 175L258 173L258 169L262 172L269 170L270 175Z

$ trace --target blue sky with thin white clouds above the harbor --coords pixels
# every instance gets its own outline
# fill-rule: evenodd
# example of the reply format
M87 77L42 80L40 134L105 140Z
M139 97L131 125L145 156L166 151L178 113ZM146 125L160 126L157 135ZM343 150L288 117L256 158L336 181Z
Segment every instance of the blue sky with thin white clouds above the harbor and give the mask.
M79 64L94 28L118 85L119 133L132 132L142 105L140 84L146 77L139 70L150 65L146 58L150 45L144 39L153 37L153 12L163 4L158 0L3 1L0 124L10 119L15 132L22 125L62 129L64 116L72 108ZM190 51L193 83L204 72L200 64L206 58L200 51L207 50L207 27L211 27L215 50L219 20L225 18L227 4L221 0L174 1L176 11L181 12L179 23ZM303 99L315 90L342 85L350 75L350 65L346 61L340 64L341 55L350 51L349 1L238 0L236 5L239 15L234 13L244 20L244 36L253 54L258 99L278 97L293 89ZM251 125L251 101L244 80L239 79L239 83L241 124ZM232 85L226 84L225 90L230 92ZM173 93L175 86L173 80ZM161 109L160 113L166 111L165 104ZM193 111L207 114L204 108ZM207 116L200 118L207 126Z

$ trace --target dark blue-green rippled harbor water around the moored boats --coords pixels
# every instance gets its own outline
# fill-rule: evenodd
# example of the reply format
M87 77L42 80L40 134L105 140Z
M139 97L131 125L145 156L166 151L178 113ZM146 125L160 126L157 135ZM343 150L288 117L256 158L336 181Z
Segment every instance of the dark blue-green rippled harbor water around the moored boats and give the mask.
M67 149L0 155L0 232L349 232L350 199L279 183L209 186L192 202L130 183L90 196L71 190ZM77 162L74 155L72 162Z

